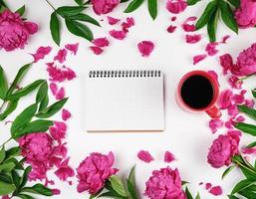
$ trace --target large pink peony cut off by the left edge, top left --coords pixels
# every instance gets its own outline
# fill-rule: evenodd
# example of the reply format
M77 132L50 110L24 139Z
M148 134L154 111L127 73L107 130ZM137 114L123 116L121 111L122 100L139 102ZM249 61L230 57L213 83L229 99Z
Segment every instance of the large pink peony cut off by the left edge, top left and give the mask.
M5 51L23 49L29 36L37 31L37 24L24 22L18 13L5 9L0 14L0 49Z

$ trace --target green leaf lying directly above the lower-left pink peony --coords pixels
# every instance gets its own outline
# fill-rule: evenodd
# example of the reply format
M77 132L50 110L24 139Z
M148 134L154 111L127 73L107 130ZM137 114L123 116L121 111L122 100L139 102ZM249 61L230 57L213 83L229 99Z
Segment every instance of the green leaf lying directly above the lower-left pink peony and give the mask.
M13 138L17 139L20 136L29 134L31 132L45 132L48 130L49 126L51 125L53 125L53 121L51 120L38 119L38 120L31 121L21 131L15 133L13 135Z

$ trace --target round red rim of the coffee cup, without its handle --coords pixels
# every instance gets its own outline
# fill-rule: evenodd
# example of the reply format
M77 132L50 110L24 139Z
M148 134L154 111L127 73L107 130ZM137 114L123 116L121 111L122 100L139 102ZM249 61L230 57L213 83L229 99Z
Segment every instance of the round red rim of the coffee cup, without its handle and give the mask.
M181 88L182 88L182 85L184 84L184 82L190 78L191 76L195 76L195 75L198 75L198 76L202 76L204 78L206 78L211 86L212 86L212 89L213 89L213 98L211 100L211 102L205 106L205 107L202 107L202 108L194 108L194 107L191 107L189 105L187 105L185 103L185 101L182 99L181 97ZM187 74L185 74L179 81L178 83L178 87L177 87L177 95L178 95L178 99L182 102L182 104L190 109L190 110L193 110L193 111L205 111L207 109L209 109L210 107L214 106L214 104L216 103L217 99L218 99L218 96L219 96L219 86L218 86L218 83L217 81L210 75L208 74L207 72L205 71L201 71L201 70L195 70L195 71L191 71L191 72L188 72Z

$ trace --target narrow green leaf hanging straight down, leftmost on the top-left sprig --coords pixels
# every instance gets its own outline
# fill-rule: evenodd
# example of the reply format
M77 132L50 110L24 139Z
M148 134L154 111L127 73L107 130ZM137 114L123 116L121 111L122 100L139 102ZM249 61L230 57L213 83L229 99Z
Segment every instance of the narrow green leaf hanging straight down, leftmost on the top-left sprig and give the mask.
M61 42L61 33L60 33L60 22L57 17L56 12L53 12L51 14L51 19L50 19L50 30L51 30L51 35L55 43L60 46Z

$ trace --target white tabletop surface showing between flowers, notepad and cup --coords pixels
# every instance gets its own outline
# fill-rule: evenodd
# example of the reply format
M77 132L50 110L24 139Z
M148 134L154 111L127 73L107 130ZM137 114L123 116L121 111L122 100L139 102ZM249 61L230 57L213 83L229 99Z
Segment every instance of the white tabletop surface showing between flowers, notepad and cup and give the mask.
M17 70L28 62L32 62L32 57L28 53L35 52L39 46L50 45L54 47L54 53L47 59L33 66L28 76L24 80L24 85L36 79L46 79L45 62L51 61L58 51L58 47L53 43L49 31L49 18L52 12L51 8L44 0L31 1L8 1L13 10L26 3L26 17L39 24L39 32L32 36L29 44L24 50L17 50L6 53L3 50L0 53L0 63L4 67L10 81L14 77ZM59 5L73 5L72 0L52 0L57 7ZM62 47L67 43L80 42L80 49L76 57L69 56L67 66L76 71L78 78L75 81L63 84L66 87L67 96L70 100L66 107L73 113L72 119L69 120L67 142L69 154L71 156L71 165L76 168L79 163L93 151L108 153L112 150L116 155L115 166L120 168L120 175L127 176L132 165L136 164L136 181L141 198L144 190L144 183L148 179L153 169L166 166L163 163L163 154L165 150L170 150L176 156L177 161L171 163L172 168L178 167L182 179L189 181L189 189L193 194L200 192L202 199L226 198L222 195L214 197L207 193L199 182L211 182L213 185L221 185L224 193L228 194L231 188L242 177L238 170L233 171L224 180L221 180L221 174L224 170L211 168L207 164L207 151L212 140L218 133L224 133L221 129L212 135L207 127L209 117L205 113L188 113L181 110L175 103L174 93L180 77L195 69L214 70L220 76L221 90L228 88L226 78L223 78L220 66L218 64L218 56L223 53L230 53L234 58L239 52L248 48L250 44L256 41L256 30L240 30L239 36L231 33L223 24L220 24L218 30L218 39L226 34L232 37L228 40L227 45L218 47L220 53L218 56L210 57L193 66L192 57L197 54L204 53L207 44L206 30L199 31L203 35L203 40L195 45L189 45L184 42L185 33L181 30L180 24L188 17L199 15L205 2L189 7L186 11L177 16L177 21L173 24L178 25L177 30L173 34L168 34L166 28L172 23L170 17L173 16L165 9L165 3L159 5L159 13L157 19L152 22L143 4L138 10L132 14L124 14L127 4L119 6L111 14L113 17L125 19L133 16L135 26L130 29L128 38L124 41L117 41L108 36L108 31L113 27L107 24L106 20L102 23L102 28L92 26L95 37L108 36L111 46L106 49L103 55L95 56L88 49L90 43L71 35L66 28L62 28ZM90 11L91 13L92 11ZM94 14L93 14L94 15ZM95 16L97 19L106 19L106 16ZM221 30L220 30L221 29ZM155 44L155 49L149 58L142 58L136 49L136 44L141 40L150 40ZM87 133L83 129L83 114L81 107L83 104L82 96L84 94L83 76L90 70L100 69L155 69L162 70L165 74L165 122L166 130L159 133ZM254 82L254 84L253 84ZM251 90L255 87L255 79L250 79L244 84L244 88ZM248 95L249 97L250 95ZM20 112L26 105L31 104L33 97L26 97L19 104L19 107L9 117ZM60 116L60 115L59 115ZM57 117L58 118L58 117ZM9 136L10 124L0 126L2 142ZM242 145L253 141L253 137L243 136ZM136 153L140 149L148 150L154 157L155 161L145 164L136 158ZM77 181L74 178L74 185L69 186L68 183L60 182L50 172L50 178L56 181L56 188L60 188L62 194L54 196L54 198L86 198L87 193L79 194L76 190ZM38 197L40 198L40 197ZM43 197L42 197L43 198Z

